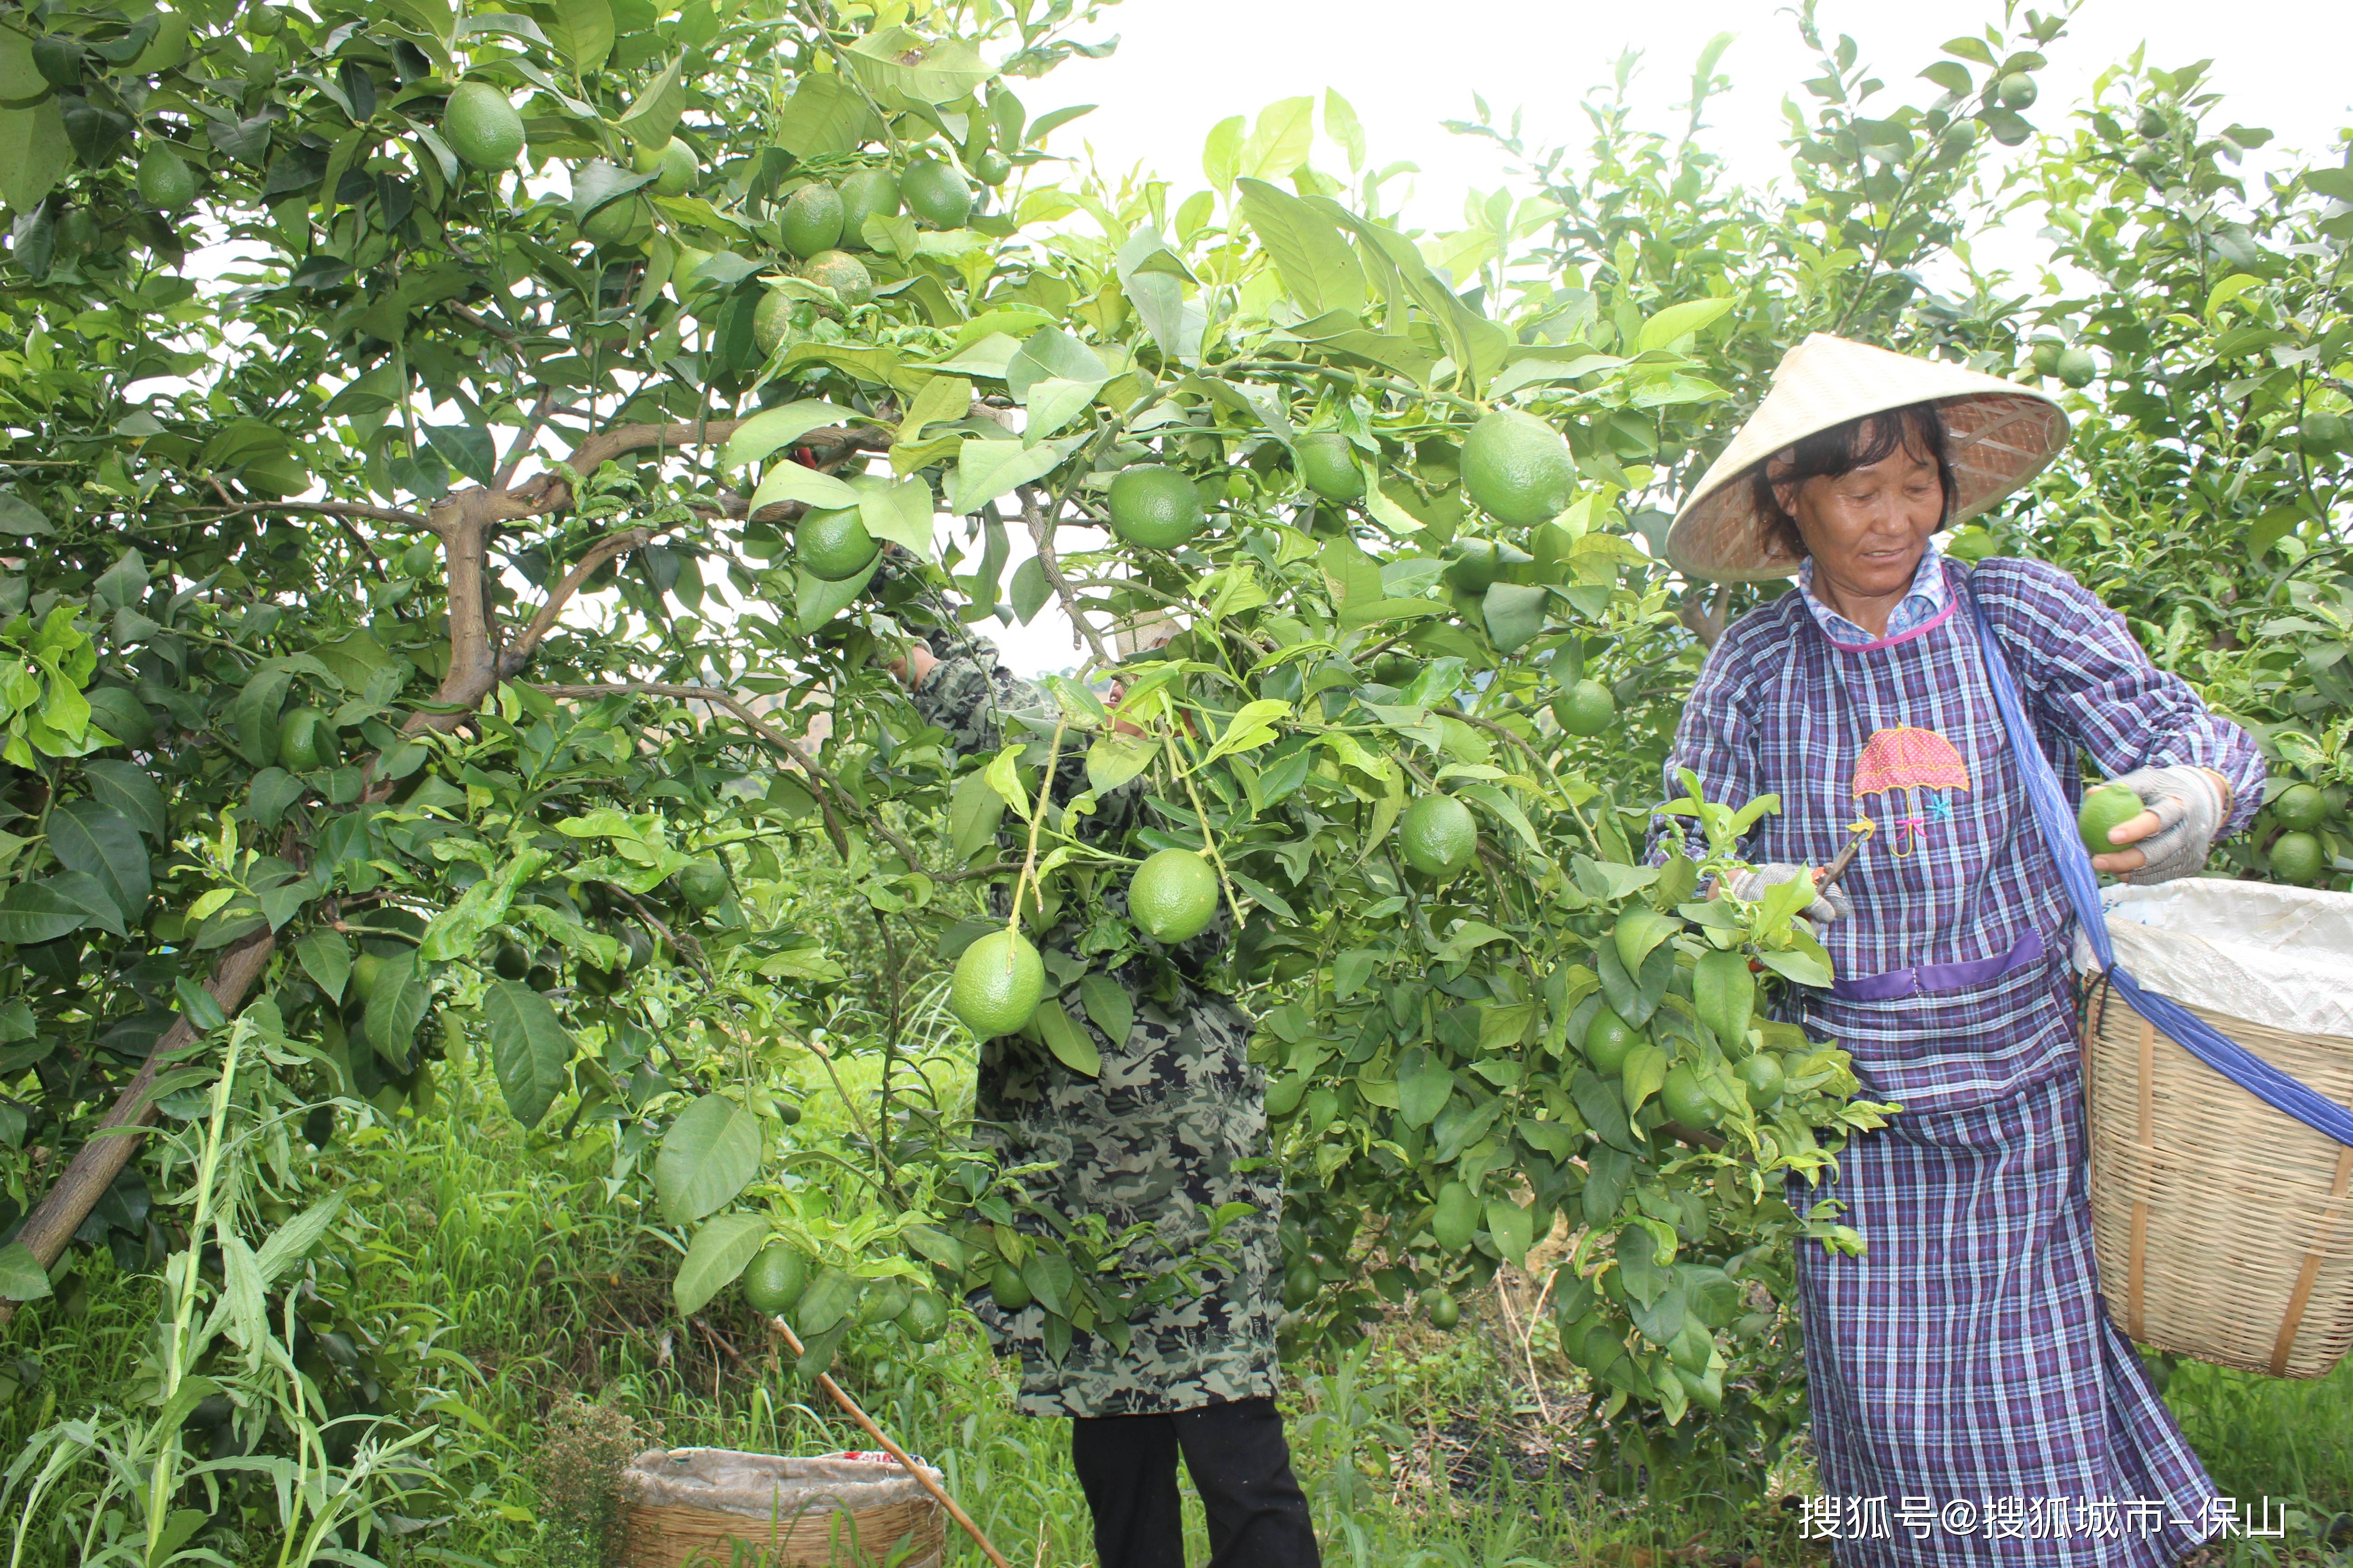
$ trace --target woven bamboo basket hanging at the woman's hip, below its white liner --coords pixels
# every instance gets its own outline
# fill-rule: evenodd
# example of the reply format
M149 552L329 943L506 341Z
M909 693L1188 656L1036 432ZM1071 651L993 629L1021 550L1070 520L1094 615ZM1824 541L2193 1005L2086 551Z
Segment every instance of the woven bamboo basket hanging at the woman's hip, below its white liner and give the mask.
M2188 1011L2353 1103L2353 1039ZM2353 1349L2353 1147L2264 1105L2097 983L2082 1067L2115 1326L2198 1361L2327 1375Z

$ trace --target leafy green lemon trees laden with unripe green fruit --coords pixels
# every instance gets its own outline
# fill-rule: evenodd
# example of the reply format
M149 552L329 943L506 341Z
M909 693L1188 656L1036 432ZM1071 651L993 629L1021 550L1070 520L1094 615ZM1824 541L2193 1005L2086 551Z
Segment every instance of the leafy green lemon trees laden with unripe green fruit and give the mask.
M2162 656L2315 785L2273 806L2301 835L2344 799L2341 705L2278 658L2332 670L2353 625L2341 172L2247 197L2221 162L2254 134L2134 73L2101 92L2141 118L2089 120L2127 158L1998 174L2057 24L1958 38L1901 108L1800 26L1824 75L1788 188L1697 141L1718 42L1689 136L1607 94L1574 158L1461 127L1527 193L1409 233L1339 96L1219 125L1200 181L1061 158L1082 110L1040 78L1106 47L1071 0L0 9L0 1288L167 1265L181 1347L7 1483L80 1488L165 1561L205 1528L181 1420L264 1340L322 1410L421 1432L421 1366L334 1349L379 1345L339 1284L365 1220L306 1206L304 1152L431 1107L454 1056L532 1138L609 1147L680 1312L788 1312L805 1371L981 1288L1120 1335L1212 1258L1139 1267L1144 1237L1033 1211L904 1060L911 954L955 961L974 1032L1092 1072L1073 1020L1125 1037L1108 973L1217 905L1217 983L1264 1018L1294 1342L1414 1302L1454 1326L1565 1227L1544 1316L1621 1441L1779 1439L1788 1246L1854 1241L1786 1182L1882 1107L1772 1020L1828 978L1798 896L1704 896L1774 802L1685 780L1657 811L1741 604L1654 559L1664 501L1809 329L2000 369L2042 334L2061 381L2068 350L2146 374L2085 381L2052 522L2014 534L2174 616ZM2108 292L1932 292L2021 197L2106 214L2061 228ZM2151 277L2165 315L2129 303ZM2245 489L2200 456L2238 400ZM2184 522L2146 555L2104 522L2141 484L2261 501L2261 548ZM1059 724L974 757L918 724L885 668L911 635L1049 602L1080 630ZM1118 654L1155 621L1174 642ZM1078 832L1125 785L1141 827ZM871 945L774 919L812 853ZM812 1138L779 1084L840 1086L845 1053L880 1100ZM249 1272L242 1237L294 1213L325 1218ZM198 1333L209 1302L235 1333ZM261 1474L285 1429L228 1406ZM113 1465L78 1469L94 1443ZM242 1507L329 1528L275 1495Z

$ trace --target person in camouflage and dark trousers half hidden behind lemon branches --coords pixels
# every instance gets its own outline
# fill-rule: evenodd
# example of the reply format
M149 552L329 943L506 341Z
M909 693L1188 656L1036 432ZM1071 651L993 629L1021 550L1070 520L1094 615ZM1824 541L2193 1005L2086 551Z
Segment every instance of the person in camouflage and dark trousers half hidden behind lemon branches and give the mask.
M896 670L915 712L948 731L955 750L995 752L1007 731L1054 729L1054 701L962 630L927 632ZM1085 748L1071 745L1054 799L1085 790ZM1101 795L1078 832L1118 844L1144 816L1144 780L1132 780ZM1101 903L1125 919L1125 884ZM1005 889L991 891L1000 919L1009 907ZM1073 1418L1071 1460L1104 1568L1184 1568L1179 1453L1207 1507L1212 1568L1313 1568L1315 1533L1273 1403L1282 1180L1266 1135L1266 1077L1249 1063L1249 1018L1205 983L1233 922L1221 907L1207 931L1169 947L1139 933L1153 957L1111 976L1134 1006L1134 1027L1106 1039L1075 987L1087 969L1075 943L1089 917L1064 917L1038 947L1049 976L1073 978L1066 1011L1101 1051L1101 1074L1078 1074L1019 1034L981 1041L981 1138L1007 1164L1049 1166L1052 1185L1035 1194L1045 1206L1096 1213L1113 1232L1151 1222L1179 1255L1207 1241L1214 1208L1247 1204L1221 1234L1235 1267L1205 1267L1207 1291L1132 1324L1125 1352L1078 1331L1056 1359L1035 1302L1005 1312L981 1291L972 1309L991 1342L1021 1361L1019 1410Z

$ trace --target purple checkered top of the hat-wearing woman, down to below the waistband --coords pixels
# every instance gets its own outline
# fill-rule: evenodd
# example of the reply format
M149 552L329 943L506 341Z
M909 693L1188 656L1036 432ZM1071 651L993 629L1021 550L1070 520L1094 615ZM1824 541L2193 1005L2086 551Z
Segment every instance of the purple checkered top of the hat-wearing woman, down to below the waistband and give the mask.
M1875 1098L1965 1110L2047 1077L2073 1048L2061 966L2071 914L1986 684L1962 597L1972 574L1941 557L1927 567L1941 576L1944 609L1859 646L1833 644L1807 592L1741 616L1692 689L1666 792L1682 792L1675 769L1687 766L1715 802L1779 795L1781 813L1760 820L1746 844L1758 863L1821 865L1847 842L1849 823L1875 823L1842 882L1852 919L1819 931L1842 978L2000 959L2031 933L2042 938L2040 961L1969 990L1894 1001L1809 990L1791 1009L1809 1034L1854 1053ZM2148 663L2122 616L2042 562L1988 559L1974 583L2071 792L2078 752L2108 776L2205 766L2231 783L2226 832L2254 816L2264 783L2254 741L2217 719L2188 682ZM1944 736L1969 788L1857 797L1864 748L1899 726Z

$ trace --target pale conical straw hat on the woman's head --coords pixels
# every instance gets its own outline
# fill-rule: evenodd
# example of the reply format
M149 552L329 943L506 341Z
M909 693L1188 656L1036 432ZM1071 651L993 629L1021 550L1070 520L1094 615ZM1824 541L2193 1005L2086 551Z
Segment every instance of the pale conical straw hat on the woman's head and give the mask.
M2033 480L2066 444L2066 414L2033 388L1817 331L1781 355L1765 402L1682 503L1666 559L1715 583L1788 576L1798 557L1758 517L1748 470L1817 430L1913 402L1939 404L1951 437L1958 494L1948 524Z

